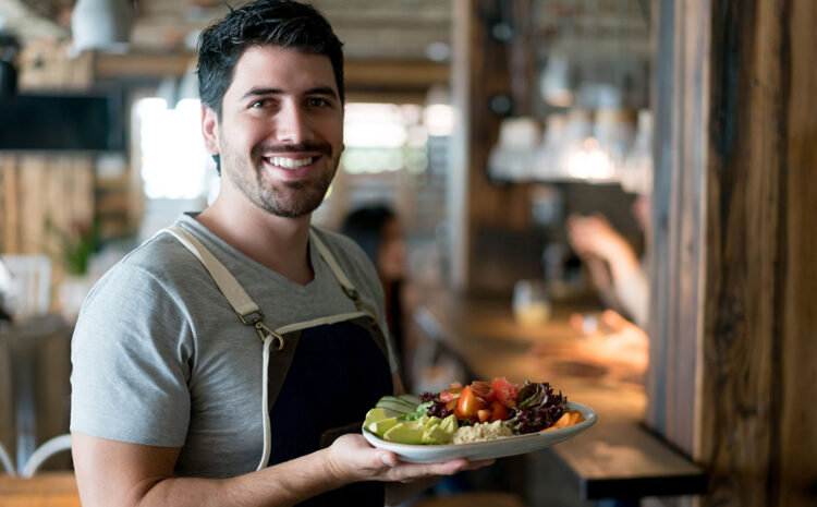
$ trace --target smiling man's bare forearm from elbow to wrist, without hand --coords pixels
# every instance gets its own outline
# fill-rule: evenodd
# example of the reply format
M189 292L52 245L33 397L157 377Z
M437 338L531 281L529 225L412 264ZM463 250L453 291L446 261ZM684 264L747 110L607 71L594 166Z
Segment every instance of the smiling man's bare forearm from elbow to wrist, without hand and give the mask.
M327 468L325 451L232 479L172 478L155 483L135 503L154 506L289 506L344 485Z

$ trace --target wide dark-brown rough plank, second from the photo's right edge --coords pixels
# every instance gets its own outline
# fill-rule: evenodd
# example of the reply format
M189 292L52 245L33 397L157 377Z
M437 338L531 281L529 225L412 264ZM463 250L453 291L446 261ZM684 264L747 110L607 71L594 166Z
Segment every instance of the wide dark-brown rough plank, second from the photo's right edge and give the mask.
M704 505L777 505L790 3L714 2ZM740 72L735 70L740 69ZM805 231L803 231L805 232ZM734 443L742 445L734 445ZM758 480L758 478L767 480Z

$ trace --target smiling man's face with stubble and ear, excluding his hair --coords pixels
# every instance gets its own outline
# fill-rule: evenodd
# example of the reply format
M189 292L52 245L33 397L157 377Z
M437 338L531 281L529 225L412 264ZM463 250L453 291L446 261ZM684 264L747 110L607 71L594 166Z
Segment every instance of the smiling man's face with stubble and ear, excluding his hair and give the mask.
M221 120L205 108L203 130L231 186L254 206L288 218L312 213L343 152L343 106L329 58L248 48L224 93Z

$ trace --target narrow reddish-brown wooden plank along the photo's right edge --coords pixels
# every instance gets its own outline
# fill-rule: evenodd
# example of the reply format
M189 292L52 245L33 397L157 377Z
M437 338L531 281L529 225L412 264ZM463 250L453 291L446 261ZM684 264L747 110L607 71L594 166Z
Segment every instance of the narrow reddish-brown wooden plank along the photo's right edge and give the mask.
M778 439L779 458L776 474L780 478L777 505L791 507L814 506L817 502L817 410L805 399L814 399L817 386L817 236L815 203L817 203L817 67L814 48L817 46L814 26L817 3L795 1L792 4L784 45L791 49L789 73L790 95L788 113L784 172L784 214L781 239L785 249L783 265L784 303L781 305L782 387L779 395L780 414Z

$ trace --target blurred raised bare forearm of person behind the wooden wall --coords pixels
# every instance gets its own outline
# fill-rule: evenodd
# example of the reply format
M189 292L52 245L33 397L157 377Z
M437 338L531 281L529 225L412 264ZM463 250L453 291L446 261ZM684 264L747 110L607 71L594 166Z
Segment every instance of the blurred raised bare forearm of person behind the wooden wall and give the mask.
M633 216L643 231L649 230L648 196L636 198ZM605 304L625 313L636 325L646 326L649 280L626 239L601 215L571 215L568 239L587 266Z

